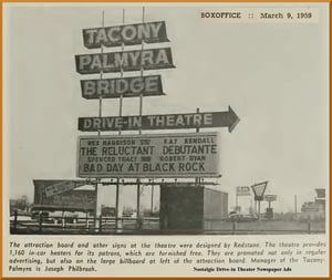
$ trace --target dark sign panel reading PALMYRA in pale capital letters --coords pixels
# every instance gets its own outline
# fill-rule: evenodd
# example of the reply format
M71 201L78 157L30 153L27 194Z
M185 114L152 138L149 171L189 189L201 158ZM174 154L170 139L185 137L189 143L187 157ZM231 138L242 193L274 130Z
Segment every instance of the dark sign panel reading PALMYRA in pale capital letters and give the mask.
M76 71L80 74L97 74L175 68L170 48L141 51L77 54Z

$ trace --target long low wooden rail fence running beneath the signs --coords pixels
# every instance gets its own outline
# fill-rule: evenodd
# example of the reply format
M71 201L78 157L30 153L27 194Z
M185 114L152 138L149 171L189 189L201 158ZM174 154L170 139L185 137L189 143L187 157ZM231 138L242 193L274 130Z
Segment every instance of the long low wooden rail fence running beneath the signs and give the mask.
M324 234L323 220L237 221L205 219L204 229L160 229L158 217L45 217L35 218L15 212L10 219L13 235L276 235Z

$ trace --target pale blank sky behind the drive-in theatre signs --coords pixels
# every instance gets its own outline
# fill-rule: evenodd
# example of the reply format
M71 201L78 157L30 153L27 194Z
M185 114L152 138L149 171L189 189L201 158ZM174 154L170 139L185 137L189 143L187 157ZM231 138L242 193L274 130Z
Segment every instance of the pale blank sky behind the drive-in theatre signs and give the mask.
M313 200L314 188L329 187L324 7L318 23L245 24L201 20L199 4L145 6L145 21L165 21L170 40L149 46L170 46L176 68L148 71L162 74L166 95L145 97L143 114L232 107L241 120L235 129L211 129L221 134L222 177L210 179L229 194L230 207L236 186L268 180L279 211L293 211L295 195L299 210ZM124 8L126 23L142 21L142 4L4 4L4 197L32 201L32 179L77 178L77 136L89 135L77 131L77 118L96 116L98 102L82 98L80 80L89 76L76 72L74 55L96 52L84 48L83 29L101 27L103 10L106 27L121 24ZM138 114L138 98L124 100L123 110ZM103 115L117 114L118 101L104 101ZM122 204L134 206L135 191L122 187ZM149 191L145 187L146 206ZM98 201L114 205L114 196L105 186Z

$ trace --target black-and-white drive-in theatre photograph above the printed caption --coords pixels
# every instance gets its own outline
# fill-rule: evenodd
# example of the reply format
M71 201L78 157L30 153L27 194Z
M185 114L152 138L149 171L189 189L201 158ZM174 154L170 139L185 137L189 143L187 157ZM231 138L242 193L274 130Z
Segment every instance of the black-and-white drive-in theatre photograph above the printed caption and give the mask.
M328 22L323 3L6 4L3 236L328 240Z

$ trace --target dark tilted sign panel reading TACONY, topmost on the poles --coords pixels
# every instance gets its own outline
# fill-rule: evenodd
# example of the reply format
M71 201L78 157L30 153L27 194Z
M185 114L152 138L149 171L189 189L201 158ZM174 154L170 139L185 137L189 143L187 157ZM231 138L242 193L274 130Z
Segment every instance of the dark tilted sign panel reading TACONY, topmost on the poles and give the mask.
M165 21L93 28L83 30L84 45L89 49L145 43L168 42Z

